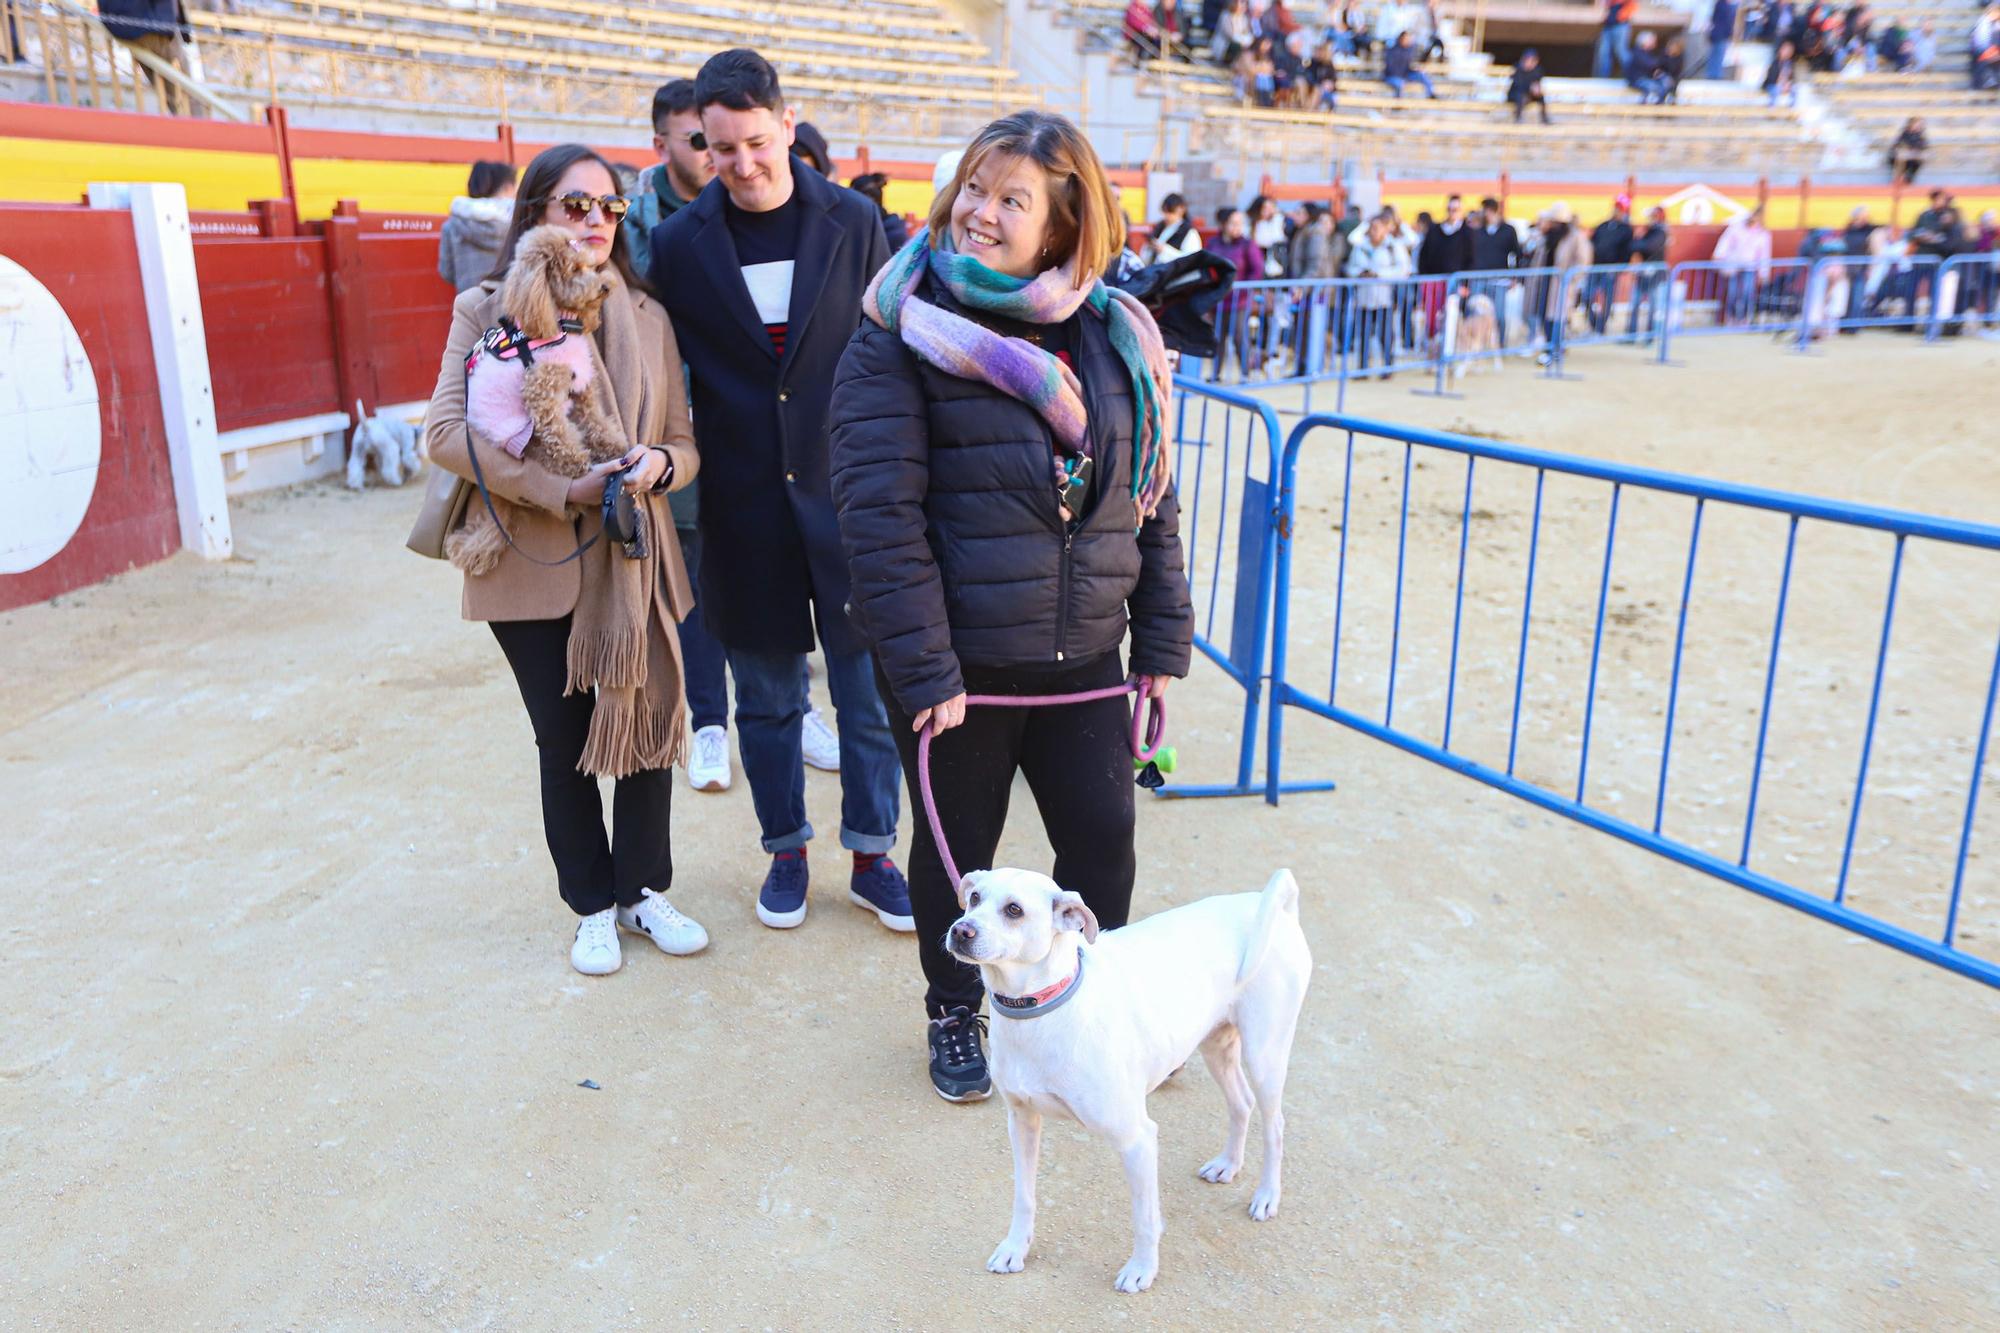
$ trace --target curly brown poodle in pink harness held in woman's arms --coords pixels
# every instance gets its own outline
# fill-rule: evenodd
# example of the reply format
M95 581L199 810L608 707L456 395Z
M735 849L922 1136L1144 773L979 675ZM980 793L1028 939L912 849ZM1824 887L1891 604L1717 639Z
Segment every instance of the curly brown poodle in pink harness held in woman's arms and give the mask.
M626 452L590 346L612 278L586 266L572 240L560 226L522 232L500 284L500 310L530 340L528 356L518 350L484 354L494 336L482 338L466 384L472 426L562 476L582 476L594 462ZM580 322L582 332L574 332L574 324L564 330L564 318ZM524 364L530 358L532 364ZM522 436L526 444L516 448ZM458 568L484 574L500 560L506 536L486 508L474 504L444 548Z

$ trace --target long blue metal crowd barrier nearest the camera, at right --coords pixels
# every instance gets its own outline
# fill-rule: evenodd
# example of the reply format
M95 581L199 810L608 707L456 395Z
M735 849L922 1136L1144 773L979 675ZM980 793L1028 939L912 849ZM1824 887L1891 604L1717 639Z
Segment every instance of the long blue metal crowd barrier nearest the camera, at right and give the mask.
M1324 430L1346 432L1346 462L1344 462L1344 482L1340 496L1338 568L1334 576L1334 604L1332 604L1332 640L1330 640L1332 669L1330 675L1326 677L1328 683L1324 693L1316 693L1300 683L1300 677L1296 677L1296 669L1290 654L1296 628L1292 622L1292 610L1294 610L1292 602L1294 602L1294 576L1298 574L1294 562L1294 548L1298 544L1298 512L1300 512L1298 460L1300 460L1300 450L1306 444L1308 436L1314 436L1316 432ZM1348 636L1352 636L1354 628L1352 622L1346 626L1342 622L1352 582L1350 562L1364 562L1374 554L1374 550L1358 550L1350 546L1350 528L1352 528L1350 506L1354 502L1356 438L1384 442L1392 458L1396 454L1396 446L1400 446L1400 466L1402 466L1400 520L1396 524L1396 542L1394 542L1394 612L1390 616L1390 628L1388 628L1388 671L1386 671L1386 681L1380 683L1374 679L1368 681L1370 687L1380 685L1376 693L1386 701L1380 715L1374 713L1364 715L1352 705L1342 703L1340 697L1342 689L1340 648L1344 640L1344 628L1348 630ZM1450 478L1448 484L1452 490L1452 508L1458 510L1458 532L1456 532L1458 574L1456 574L1452 620L1450 620L1452 630L1450 630L1450 650L1446 669L1448 677L1442 689L1442 713L1444 713L1442 737L1438 737L1436 741L1416 735L1416 731L1406 721L1398 725L1396 719L1398 660L1406 656L1404 574L1406 574L1406 560L1410 546L1412 462L1416 460L1418 454L1424 456L1422 462L1416 462L1418 468L1424 468L1426 462L1434 468L1440 456L1464 458L1462 494L1456 476L1452 472L1446 472L1446 476ZM1460 675L1462 675L1460 630L1466 612L1468 538L1472 520L1476 516L1482 516L1480 510L1474 506L1476 464L1486 464L1488 468L1504 464L1506 468L1512 470L1516 478L1520 478L1520 484L1526 484L1528 474L1532 474L1534 478L1534 510L1526 538L1526 582L1520 596L1520 636L1512 662L1510 709L1506 709L1506 701L1500 701L1500 707L1508 715L1504 763L1498 757L1494 757L1490 763L1474 759L1466 751L1478 747L1466 747L1462 737L1460 743L1454 747L1452 739L1454 709L1460 709ZM1374 470L1372 466L1364 466L1364 472L1372 470ZM1388 468L1384 468L1382 474L1390 476L1392 470L1394 462ZM1486 470L1480 472L1480 476L1484 474ZM1582 735L1576 755L1574 793L1558 791L1550 785L1528 781L1516 771L1520 723L1522 723L1522 693L1528 681L1526 662L1530 650L1530 616L1534 612L1534 594L1536 594L1536 568L1538 562L1546 564L1550 560L1564 560L1566 556L1572 554L1570 550L1562 550L1556 544L1560 540L1560 536L1556 534L1564 532L1570 524L1556 522L1552 526L1554 534L1546 536L1544 540L1544 526L1548 524L1544 524L1542 498L1544 498L1544 482L1550 476L1606 482L1610 500L1608 502L1610 518L1604 534L1602 566L1596 570L1598 592L1596 592L1596 626L1592 630L1592 640L1590 640L1590 675L1582 707L1578 709L1582 715ZM1488 486L1492 486L1492 482L1488 482ZM1688 534L1686 552L1682 556L1684 562L1678 564L1680 606L1672 640L1672 671L1664 685L1664 733L1658 735L1660 763L1658 763L1656 791L1652 793L1650 801L1650 817L1652 817L1650 823L1634 823L1608 809L1592 805L1588 799L1592 797L1588 787L1590 747L1594 739L1592 731L1594 725L1598 725L1598 715L1600 715L1600 695L1602 703L1606 705L1612 703L1610 687L1606 687L1606 691L1600 693L1600 660L1604 654L1606 606L1612 590L1612 558L1618 544L1618 502L1620 496L1628 492L1634 498L1684 496L1692 500L1692 528ZM1648 498L1646 504L1654 504L1654 500ZM1702 540L1702 516L1704 510L1708 510L1710 506L1728 506L1724 510L1718 510L1724 514L1730 510L1738 512L1762 510L1770 514L1782 514L1788 520L1784 552L1782 552L1782 570L1776 574L1774 580L1776 614L1772 620L1768 648L1758 654L1760 660L1764 662L1764 669L1760 673L1762 683L1746 681L1746 689L1742 691L1744 695L1742 703L1756 703L1758 699L1760 703L1756 705L1756 717L1758 717L1756 743L1754 743L1754 759L1750 761L1748 803L1742 821L1742 841L1740 841L1740 851L1736 851L1734 859L1728 855L1718 855L1716 851L1696 847L1690 841L1670 837L1662 831L1666 817L1668 779L1672 777L1672 761L1674 761L1674 721L1676 721L1676 711L1682 707L1682 693L1684 693L1682 654L1688 642L1688 608L1696 592L1696 554L1700 550L1700 540ZM1436 508L1438 508L1436 504L1426 504L1420 512L1436 514ZM1490 518L1492 514L1484 516ZM1732 522L1736 520L1732 518ZM1752 869L1752 833L1756 831L1760 789L1764 787L1766 781L1766 743L1770 739L1772 687L1778 679L1780 644L1784 640L1784 624L1786 624L1786 604L1792 598L1794 582L1808 588L1818 586L1806 574L1800 574L1800 578L1794 580L1794 556L1798 554L1800 546L1798 534L1802 522L1810 524L1812 528L1830 524L1834 528L1846 528L1858 532L1882 532L1894 538L1892 550L1888 552L1890 554L1888 592L1880 620L1880 638L1874 640L1870 636L1874 648L1872 652L1874 677L1868 693L1868 719L1860 735L1860 767L1854 777L1852 801L1846 811L1846 835L1840 847L1840 871L1838 879L1832 885L1830 897L1824 893L1814 893L1794 883L1786 883L1782 879L1782 871L1778 869L1770 867ZM1950 875L1948 875L1950 895L1948 895L1948 905L1944 909L1942 929L1936 935L1918 933L1894 925L1890 921L1884 921L1880 917L1856 911L1852 903L1848 903L1850 871L1854 867L1856 829L1860 825L1864 797L1868 795L1868 771L1876 743L1876 723L1878 717L1882 715L1882 683L1890 652L1892 626L1896 622L1898 584L1906 568L1904 550L1912 540L1924 544L1926 564L1936 558L1936 546L2000 550L2000 528L1976 522L1958 522L1950 518L1934 518L1924 514L1874 508L1864 504L1844 504L1814 496L1764 490L1756 486L1710 482L1672 472L1658 472L1652 468L1598 462L1590 458L1554 454L1534 448L1520 448L1514 444L1498 444L1492 440L1476 440L1456 434L1442 434L1434 430L1394 426L1378 420L1364 420L1354 416L1330 416L1330 414L1306 416L1304 420L1298 422L1298 426L1292 430L1292 434L1284 444L1284 454L1280 460L1280 484L1278 484L1278 506L1274 512L1274 528L1276 528L1278 550L1276 550L1276 582L1272 588L1272 642L1270 642L1272 693L1270 693L1270 715L1266 723L1268 737L1266 737L1266 757L1264 757L1266 801L1270 801L1272 805L1276 805L1278 801L1282 783L1284 711L1286 707L1294 707L1306 713L1314 713L1318 717L1332 719L1354 731L1360 731L1362 735L1374 737L1402 751L1420 755L1438 765L1474 777L1482 783L1498 787L1500 791L1522 797L1546 811L1554 811L1586 827L1610 833L1618 839L1624 839L1628 843L1654 851L1662 857L1668 857L1680 865L1704 871L1732 885L1740 885L1744 889L1770 897L1798 911L1810 913L1824 921L1856 931L1864 937L1912 953L1940 967L1948 967L1966 977L1974 977L1988 985L2000 987L2000 965L1976 957L1972 953L1966 953L1956 939L1960 903L1966 889L1966 861L1972 845L1974 815L1978 809L1978 789L1982 781L1986 749L1992 731L1994 695L1996 687L2000 687L2000 648L1994 650L1990 675L1984 675L1986 679L1984 711L1980 713L1978 719L1978 741L1974 745L1972 781L1966 787L1964 821L1956 841L1956 859L1950 865ZM1370 532L1374 528L1364 526L1362 530ZM1362 540L1366 538L1356 538L1356 546ZM1822 538L1816 534L1814 540ZM1388 560L1386 548L1388 540L1384 534L1382 554L1380 554L1384 562ZM1596 558L1596 552L1592 550L1582 558L1586 560ZM1666 568L1676 568L1676 566L1668 564ZM1376 566L1372 572L1386 574L1386 568ZM1732 568L1732 576L1734 572L1736 570ZM1386 582L1386 576L1380 582ZM1512 638L1512 630L1504 632L1508 634L1508 638ZM1380 638L1380 634L1376 638ZM1428 646L1442 646L1442 644L1428 644ZM1980 660L1984 660L1984 656ZM1350 673L1354 669L1350 666ZM1436 683L1428 681L1426 685L1436 685ZM1432 691L1430 699L1434 699L1438 691ZM1700 703L1704 707L1712 703L1706 697L1706 691ZM1732 707L1738 703L1734 693L1730 695L1728 703ZM1640 743L1650 745L1652 741L1642 737ZM1630 755L1632 751L1624 753ZM1710 753L1710 759L1714 759L1714 753ZM1710 783L1706 783L1704 787L1714 787L1714 783L1720 781L1722 777L1726 775L1710 777ZM1942 775L1936 777L1924 775L1926 787L1942 781L1944 781ZM1792 793L1788 787L1786 795L1794 797L1798 793ZM1610 801L1616 803L1618 793L1612 793ZM1830 843L1820 847L1818 851L1824 853L1830 861L1832 857ZM1766 855L1766 861L1772 859L1774 857ZM1790 861L1790 857L1786 859ZM1944 877L1940 875L1938 883L1942 881Z

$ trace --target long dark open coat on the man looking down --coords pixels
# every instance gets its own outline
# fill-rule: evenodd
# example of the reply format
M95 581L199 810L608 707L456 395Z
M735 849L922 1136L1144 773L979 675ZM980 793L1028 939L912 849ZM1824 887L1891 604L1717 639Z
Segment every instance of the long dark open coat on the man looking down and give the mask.
M844 606L848 564L828 488L834 368L888 262L882 210L794 164L798 258L784 358L770 346L720 180L652 230L652 286L688 362L702 450L702 622L730 648L828 652L866 646Z

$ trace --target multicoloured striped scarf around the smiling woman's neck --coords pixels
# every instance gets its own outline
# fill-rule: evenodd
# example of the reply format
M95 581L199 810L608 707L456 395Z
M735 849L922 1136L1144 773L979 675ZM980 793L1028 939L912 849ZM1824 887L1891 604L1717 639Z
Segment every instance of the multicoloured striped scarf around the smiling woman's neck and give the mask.
M970 254L954 252L948 234L930 244L928 232L918 232L876 274L862 296L862 314L898 334L918 358L946 374L992 384L1026 402L1048 422L1062 450L1082 456L1090 456L1090 420L1076 372L1026 338L996 334L984 324L930 304L916 294L926 276L972 310L1024 324L1060 324L1080 306L1104 316L1112 350L1132 376L1132 504L1138 510L1134 526L1152 518L1170 480L1166 406L1172 370L1166 364L1160 328L1146 306L1102 280L1078 288L1074 256L1062 268L1042 270L1034 278L1012 278ZM1052 460L1052 468L1060 490L1068 472L1060 458Z

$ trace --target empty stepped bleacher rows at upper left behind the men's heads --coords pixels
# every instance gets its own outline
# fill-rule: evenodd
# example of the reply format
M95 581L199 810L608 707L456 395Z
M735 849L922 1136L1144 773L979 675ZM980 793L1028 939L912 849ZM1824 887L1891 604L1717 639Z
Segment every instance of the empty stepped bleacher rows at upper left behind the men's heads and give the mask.
M190 22L212 86L316 108L644 120L660 82L746 44L778 64L808 118L844 136L944 140L1040 100L934 0L240 0Z

